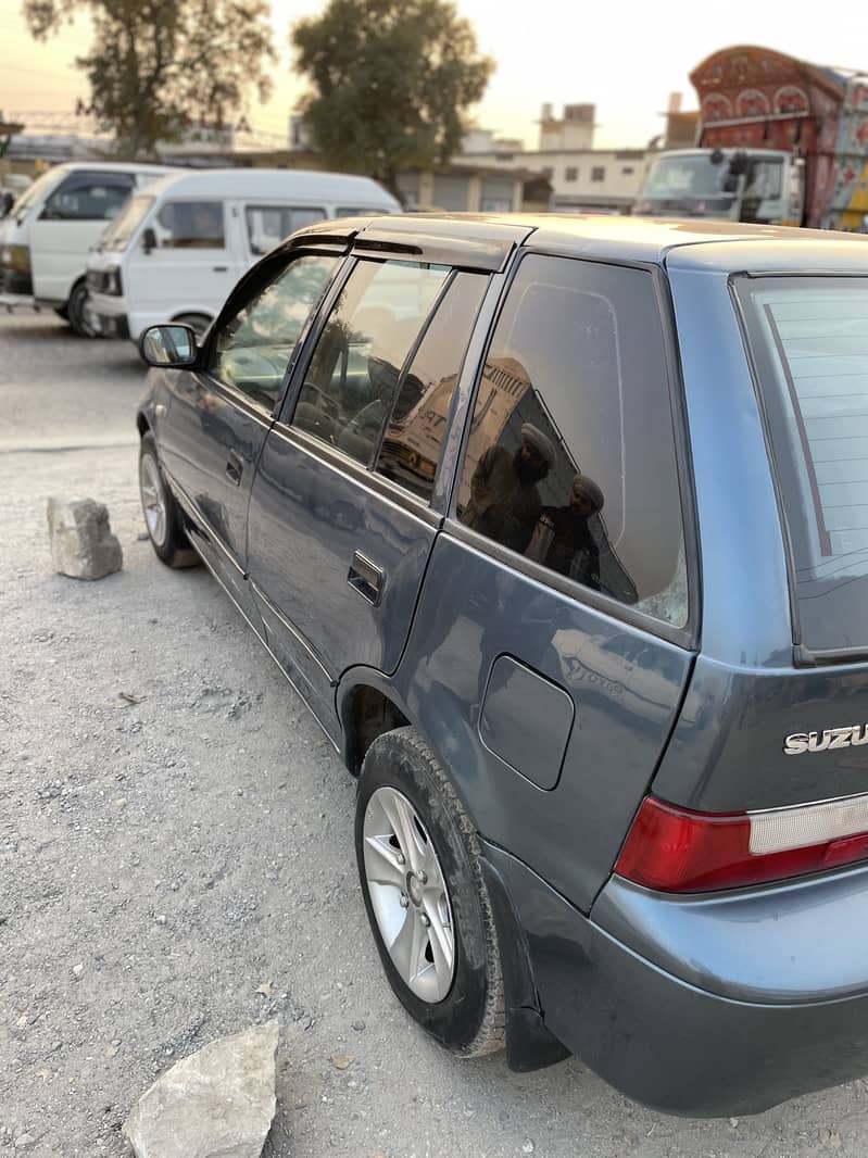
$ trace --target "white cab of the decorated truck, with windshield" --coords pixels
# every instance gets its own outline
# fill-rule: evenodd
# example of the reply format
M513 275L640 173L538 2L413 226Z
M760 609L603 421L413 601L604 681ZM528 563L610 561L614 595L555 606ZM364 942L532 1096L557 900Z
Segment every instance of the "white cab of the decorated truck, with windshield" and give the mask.
M634 212L801 225L804 162L782 149L672 149L652 161Z

